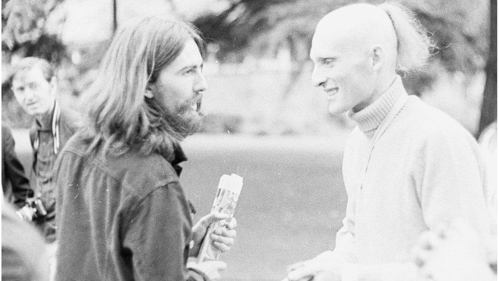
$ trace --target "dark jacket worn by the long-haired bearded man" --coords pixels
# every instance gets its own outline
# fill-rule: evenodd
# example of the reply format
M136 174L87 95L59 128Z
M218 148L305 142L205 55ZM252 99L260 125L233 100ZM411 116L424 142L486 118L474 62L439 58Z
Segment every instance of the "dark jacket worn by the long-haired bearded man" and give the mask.
M180 147L101 157L77 133L54 168L58 280L184 280L191 241L189 203L178 183Z

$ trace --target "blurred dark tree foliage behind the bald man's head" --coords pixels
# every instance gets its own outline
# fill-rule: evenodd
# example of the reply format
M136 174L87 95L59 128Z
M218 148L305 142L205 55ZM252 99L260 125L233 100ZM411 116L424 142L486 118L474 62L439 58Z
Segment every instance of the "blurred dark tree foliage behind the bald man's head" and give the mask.
M216 42L220 61L242 61L248 54L275 56L287 48L298 71L308 60L315 25L329 11L355 0L220 0L228 2L222 12L194 20L208 42ZM435 59L449 72L474 74L484 69L488 53L486 0L401 0L414 11L433 37L439 50ZM296 81L291 73L290 81ZM421 94L433 82L434 73L406 77L413 94Z

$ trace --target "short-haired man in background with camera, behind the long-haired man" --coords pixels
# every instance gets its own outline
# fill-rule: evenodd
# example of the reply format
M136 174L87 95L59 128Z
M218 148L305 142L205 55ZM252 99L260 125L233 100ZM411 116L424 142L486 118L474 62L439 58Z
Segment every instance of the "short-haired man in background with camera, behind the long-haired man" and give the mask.
M60 150L75 133L76 117L61 108L57 99L58 82L51 64L37 57L22 58L13 66L12 91L29 115L34 117L30 129L33 164L30 177L36 208L33 221L48 243L56 239L55 185L52 169ZM46 211L46 212L43 212Z

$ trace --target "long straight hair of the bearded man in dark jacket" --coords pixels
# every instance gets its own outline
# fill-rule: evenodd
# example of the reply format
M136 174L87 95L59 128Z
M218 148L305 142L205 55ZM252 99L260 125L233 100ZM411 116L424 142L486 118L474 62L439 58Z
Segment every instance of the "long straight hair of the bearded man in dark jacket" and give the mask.
M174 143L185 136L175 130L153 98L144 98L144 93L148 83L154 83L192 39L203 55L205 42L192 25L156 16L116 33L86 95L85 136L91 142L87 153L102 144L104 157L132 149L142 155L156 152L168 160L173 158Z

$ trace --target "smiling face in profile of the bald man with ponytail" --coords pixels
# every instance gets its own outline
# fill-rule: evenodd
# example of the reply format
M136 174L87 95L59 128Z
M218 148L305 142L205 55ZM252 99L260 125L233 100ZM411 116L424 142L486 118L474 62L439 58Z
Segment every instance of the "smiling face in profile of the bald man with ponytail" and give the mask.
M357 112L369 105L374 75L367 49L364 51L348 35L318 28L310 58L314 62L313 84L327 93L329 112Z

